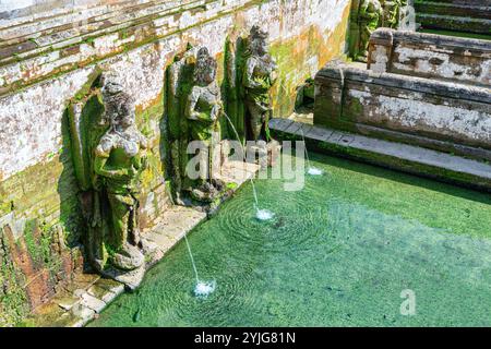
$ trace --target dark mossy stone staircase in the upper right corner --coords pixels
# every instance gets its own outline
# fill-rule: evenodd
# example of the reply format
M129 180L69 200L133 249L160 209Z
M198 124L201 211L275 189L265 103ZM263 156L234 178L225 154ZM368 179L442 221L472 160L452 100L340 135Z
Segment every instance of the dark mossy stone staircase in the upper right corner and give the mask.
M416 0L416 22L421 29L490 36L491 0Z

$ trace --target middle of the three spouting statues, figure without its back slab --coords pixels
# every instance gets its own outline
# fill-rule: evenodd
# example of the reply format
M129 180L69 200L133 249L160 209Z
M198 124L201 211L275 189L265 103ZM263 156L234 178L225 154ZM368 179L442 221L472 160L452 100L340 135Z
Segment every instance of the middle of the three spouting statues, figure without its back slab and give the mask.
M220 88L216 82L217 62L209 56L207 48L197 51L194 67L194 85L185 104L185 118L189 121L190 141L202 142L201 164L206 164L199 179L199 188L192 191L200 201L212 201L224 184L214 178L214 152L220 141L219 118L223 116Z

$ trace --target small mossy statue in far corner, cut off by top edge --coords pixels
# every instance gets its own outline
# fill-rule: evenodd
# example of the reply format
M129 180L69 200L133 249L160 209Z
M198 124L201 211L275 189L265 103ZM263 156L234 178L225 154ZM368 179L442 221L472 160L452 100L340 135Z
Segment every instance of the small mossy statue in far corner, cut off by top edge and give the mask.
M358 21L360 27L360 40L358 59L367 61L370 36L379 27L383 15L379 0L362 0L359 8Z

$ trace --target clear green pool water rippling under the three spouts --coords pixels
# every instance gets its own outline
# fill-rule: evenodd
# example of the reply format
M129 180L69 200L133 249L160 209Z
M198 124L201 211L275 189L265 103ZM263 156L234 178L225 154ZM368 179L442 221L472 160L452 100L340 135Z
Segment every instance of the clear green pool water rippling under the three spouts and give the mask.
M491 198L363 164L311 155L306 188L244 185L91 326L490 326ZM403 290L416 314L402 315Z

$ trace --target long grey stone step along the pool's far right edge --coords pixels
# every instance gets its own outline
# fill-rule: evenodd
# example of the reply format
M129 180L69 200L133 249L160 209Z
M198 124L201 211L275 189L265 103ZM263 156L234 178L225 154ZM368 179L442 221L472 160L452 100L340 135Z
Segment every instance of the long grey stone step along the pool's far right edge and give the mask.
M301 141L310 149L394 170L491 192L491 165L414 145L320 128L289 119L272 119L277 140Z

